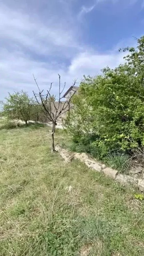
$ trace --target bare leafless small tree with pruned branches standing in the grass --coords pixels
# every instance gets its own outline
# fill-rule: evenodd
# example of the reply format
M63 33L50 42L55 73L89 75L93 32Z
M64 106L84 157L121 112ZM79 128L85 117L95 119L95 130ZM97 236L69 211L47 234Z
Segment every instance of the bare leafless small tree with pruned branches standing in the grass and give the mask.
M73 94L71 95L71 97L65 101L65 103L62 104L61 99L63 98L62 92L64 91L65 88L65 84L63 86L63 89L61 89L61 77L59 76L59 86L58 86L58 103L55 104L55 97L53 97L53 95L51 94L51 89L52 89L52 83L50 85L49 90L47 90L46 94L43 94L43 91L40 91L40 88L38 86L38 83L36 81L36 78L34 77L35 83L38 87L39 93L35 93L33 91L34 97L36 99L36 102L38 103L38 105L41 106L42 111L44 112L44 114L47 116L47 118L50 120L49 124L52 124L52 132L51 132L51 136L52 136L52 145L51 145L51 152L55 152L55 147L54 147L54 133L55 133L55 128L57 125L57 121L59 121L59 118L62 114L68 112L73 106L70 105L70 101L71 98L73 97L73 95L75 94L75 90L71 89L73 91ZM73 81L73 86L76 84L77 80ZM51 109L51 105L54 106L54 111L52 111ZM57 106L56 106L57 105Z

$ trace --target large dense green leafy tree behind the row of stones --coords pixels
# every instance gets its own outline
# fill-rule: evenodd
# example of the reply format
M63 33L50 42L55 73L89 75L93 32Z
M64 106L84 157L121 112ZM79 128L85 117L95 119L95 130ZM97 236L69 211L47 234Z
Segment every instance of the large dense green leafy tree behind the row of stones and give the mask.
M120 49L121 50L121 49ZM109 150L131 150L144 144L144 36L137 48L125 48L125 64L104 68L103 74L85 77L66 127L77 142L95 134L92 142Z

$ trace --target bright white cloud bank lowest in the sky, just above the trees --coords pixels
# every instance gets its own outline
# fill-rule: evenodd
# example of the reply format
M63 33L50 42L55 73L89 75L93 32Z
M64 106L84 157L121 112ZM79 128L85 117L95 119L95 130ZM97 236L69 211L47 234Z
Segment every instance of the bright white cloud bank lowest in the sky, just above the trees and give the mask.
M80 79L83 75L96 75L105 66L115 67L123 62L123 55L115 51L107 54L82 52L71 60L68 67L35 61L20 52L14 54L4 52L0 62L1 92L24 89L32 95L32 90L37 90L32 74L35 74L41 89L47 90L50 82L53 83L53 93L57 94L58 73L61 75L62 84L66 81L66 89L72 85L72 80ZM5 88L7 88L5 90Z

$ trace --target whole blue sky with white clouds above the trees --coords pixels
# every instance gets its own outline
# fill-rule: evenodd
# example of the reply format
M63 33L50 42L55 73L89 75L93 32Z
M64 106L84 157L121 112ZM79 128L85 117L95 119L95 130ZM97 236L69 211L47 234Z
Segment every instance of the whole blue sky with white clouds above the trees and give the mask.
M0 100L37 92L58 73L65 91L74 79L123 63L120 47L144 34L144 0L0 0Z

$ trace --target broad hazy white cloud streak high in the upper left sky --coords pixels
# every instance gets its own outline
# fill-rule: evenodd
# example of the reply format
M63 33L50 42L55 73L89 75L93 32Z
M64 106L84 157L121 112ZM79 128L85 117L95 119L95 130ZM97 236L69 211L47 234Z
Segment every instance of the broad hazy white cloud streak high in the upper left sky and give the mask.
M49 54L58 47L77 48L72 29L53 23L51 18L47 24L15 10L3 7L0 10L0 37L5 44L15 44L15 47L25 47L37 54ZM62 51L62 49L60 49Z

